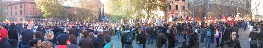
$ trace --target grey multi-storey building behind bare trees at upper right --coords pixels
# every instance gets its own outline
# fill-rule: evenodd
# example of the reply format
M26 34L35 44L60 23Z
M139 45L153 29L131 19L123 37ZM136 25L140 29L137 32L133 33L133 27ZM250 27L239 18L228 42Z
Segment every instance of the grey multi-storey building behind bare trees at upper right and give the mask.
M204 3L205 1L208 2ZM206 5L205 11L209 12L208 15L219 11L219 7L222 15L236 17L237 13L246 14L246 2L247 0L195 0L195 6Z

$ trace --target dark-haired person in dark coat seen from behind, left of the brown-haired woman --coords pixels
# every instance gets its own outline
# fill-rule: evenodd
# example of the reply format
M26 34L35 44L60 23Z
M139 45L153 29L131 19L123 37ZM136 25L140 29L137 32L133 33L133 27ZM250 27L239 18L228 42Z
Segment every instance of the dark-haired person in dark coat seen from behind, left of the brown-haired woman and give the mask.
M93 32L91 32L91 33L93 33ZM78 45L79 47L81 47L81 48L93 48L94 47L93 42L91 39L89 39L88 35L89 35L88 31L83 32L84 38L81 38L79 40L79 45Z

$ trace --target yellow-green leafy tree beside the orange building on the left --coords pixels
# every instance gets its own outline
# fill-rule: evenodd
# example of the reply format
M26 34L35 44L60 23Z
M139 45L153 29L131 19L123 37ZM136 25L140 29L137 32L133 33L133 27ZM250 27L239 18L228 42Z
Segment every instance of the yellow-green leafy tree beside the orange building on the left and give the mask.
M36 0L35 2L41 12L44 12L43 16L45 18L54 18L57 21L58 17L65 16L65 13L63 13L65 0Z

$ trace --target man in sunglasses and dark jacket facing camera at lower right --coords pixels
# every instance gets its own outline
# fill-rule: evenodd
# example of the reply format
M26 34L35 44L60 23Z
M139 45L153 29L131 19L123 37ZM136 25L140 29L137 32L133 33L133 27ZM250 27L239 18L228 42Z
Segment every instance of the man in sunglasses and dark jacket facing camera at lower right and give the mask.
M241 48L240 46L240 42L238 40L236 40L236 32L231 32L230 33L231 38L229 38L228 40L226 40L225 45L229 45L231 48Z

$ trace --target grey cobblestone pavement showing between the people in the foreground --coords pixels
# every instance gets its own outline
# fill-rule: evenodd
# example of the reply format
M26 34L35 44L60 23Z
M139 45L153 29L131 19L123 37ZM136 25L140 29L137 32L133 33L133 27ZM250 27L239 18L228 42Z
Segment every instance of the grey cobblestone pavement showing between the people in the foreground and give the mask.
M242 28L239 29L239 33L238 33L239 34L239 38L238 38L238 40L240 42L241 48L249 48L250 47L249 43L248 43L248 40L249 40L249 38L248 38L249 37L249 35L248 35L249 30L248 29L249 28L247 28L245 31ZM198 34L199 40L200 40L200 36L201 35ZM112 44L113 44L113 46L115 48L121 48L122 47L122 42L120 41L120 38L117 38L117 35L111 36L111 39L112 39L111 42L112 42ZM219 42L221 42L221 40L222 39L220 38ZM178 41L179 42L177 44L177 47L180 47L180 46L183 45L183 42L185 40L183 39L183 36L179 36L178 37ZM205 38L204 38L204 41L205 41ZM167 39L167 42L168 42L168 39ZM187 41L187 43L188 43L188 41ZM203 48L205 46L205 43L202 43L200 41L199 41L199 43L200 43L200 45L199 45L200 48ZM146 48L156 48L155 44L156 43L154 42L153 44L146 45ZM136 44L136 37L135 37L135 40L133 40L132 46L133 46L133 48L138 48L138 44ZM208 46L208 43L207 43L207 46ZM211 43L210 44L211 48L216 48L215 46L216 46L216 43ZM162 47L165 48L165 45L163 45ZM168 47L168 43L167 43L167 47ZM175 47L175 48L177 48L177 47ZM221 48L221 47L219 47L219 48Z

